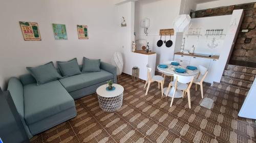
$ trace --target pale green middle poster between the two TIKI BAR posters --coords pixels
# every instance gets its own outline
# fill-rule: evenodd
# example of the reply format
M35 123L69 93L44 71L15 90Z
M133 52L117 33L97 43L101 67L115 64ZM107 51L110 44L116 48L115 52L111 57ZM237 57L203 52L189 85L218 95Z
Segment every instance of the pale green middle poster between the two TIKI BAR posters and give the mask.
M65 24L52 24L55 40L67 40L67 31Z

